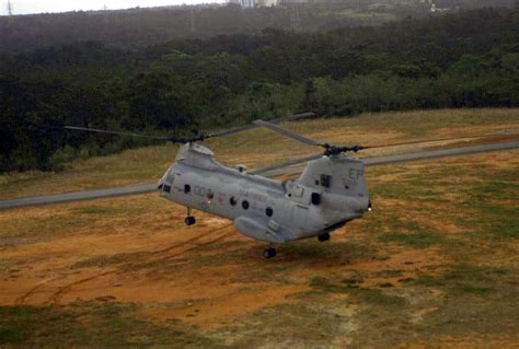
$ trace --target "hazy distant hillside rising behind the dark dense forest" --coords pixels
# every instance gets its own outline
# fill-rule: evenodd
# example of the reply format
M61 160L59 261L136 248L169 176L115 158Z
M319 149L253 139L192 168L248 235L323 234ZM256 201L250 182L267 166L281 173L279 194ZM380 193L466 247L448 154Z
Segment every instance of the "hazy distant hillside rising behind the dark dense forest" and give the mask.
M220 34L258 34L265 27L322 31L372 26L408 16L438 15L463 9L512 7L515 0L315 0L293 5L243 10L239 5L171 7L0 18L0 51L96 40L135 49L172 38ZM447 11L443 11L447 10Z

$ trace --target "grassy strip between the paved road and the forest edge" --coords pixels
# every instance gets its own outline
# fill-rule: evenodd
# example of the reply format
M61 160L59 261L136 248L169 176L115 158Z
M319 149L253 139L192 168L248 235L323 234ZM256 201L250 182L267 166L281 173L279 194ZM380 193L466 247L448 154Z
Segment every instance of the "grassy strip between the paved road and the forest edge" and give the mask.
M380 144L445 136L519 130L518 109L446 109L365 114L355 118L286 125L302 135L335 143ZM206 142L223 163L261 167L318 151L267 130L252 130ZM261 147L258 147L261 144ZM174 161L171 144L81 160L61 173L31 172L0 177L0 199L79 191L158 181ZM366 152L365 155L372 154Z

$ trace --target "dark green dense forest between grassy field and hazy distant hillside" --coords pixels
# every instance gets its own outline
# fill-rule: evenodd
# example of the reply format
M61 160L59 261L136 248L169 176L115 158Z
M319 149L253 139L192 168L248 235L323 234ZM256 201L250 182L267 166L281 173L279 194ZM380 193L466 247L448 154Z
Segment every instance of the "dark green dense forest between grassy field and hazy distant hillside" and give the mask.
M0 53L0 171L55 171L134 139L64 125L192 135L312 110L519 105L519 11L380 26L175 38L124 49L78 42Z

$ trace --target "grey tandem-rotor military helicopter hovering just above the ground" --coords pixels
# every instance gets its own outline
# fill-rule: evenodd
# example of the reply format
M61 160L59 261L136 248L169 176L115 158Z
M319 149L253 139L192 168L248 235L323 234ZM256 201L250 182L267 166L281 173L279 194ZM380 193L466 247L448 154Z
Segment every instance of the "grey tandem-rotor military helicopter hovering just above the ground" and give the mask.
M234 222L244 235L268 243L263 255L276 256L275 244L318 236L330 240L330 233L347 222L371 211L371 201L362 161L349 156L364 149L389 147L338 147L319 142L275 124L313 117L312 113L293 115L275 120L256 120L253 125L200 135L189 139L162 138L137 133L66 126L66 129L115 133L168 140L181 146L175 162L158 183L165 199L187 208L185 223L196 223L192 210L208 212ZM307 162L297 179L285 182L260 175L265 168L247 172L220 164L212 151L197 143L208 138L229 136L253 127L264 127L324 152L305 159L292 160L284 165ZM399 144L410 144L407 142ZM284 165L279 165L282 167Z

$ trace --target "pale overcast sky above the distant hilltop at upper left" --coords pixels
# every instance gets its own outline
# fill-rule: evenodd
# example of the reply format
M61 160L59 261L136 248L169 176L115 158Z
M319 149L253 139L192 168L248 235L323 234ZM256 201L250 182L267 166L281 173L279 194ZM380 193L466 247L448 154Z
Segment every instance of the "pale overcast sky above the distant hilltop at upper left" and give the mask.
M226 2L224 0L11 0L14 14L64 12L73 10L101 10L106 5L109 10L129 9L135 7L163 7L171 4L194 4L201 2ZM8 13L8 0L0 0L0 14Z

